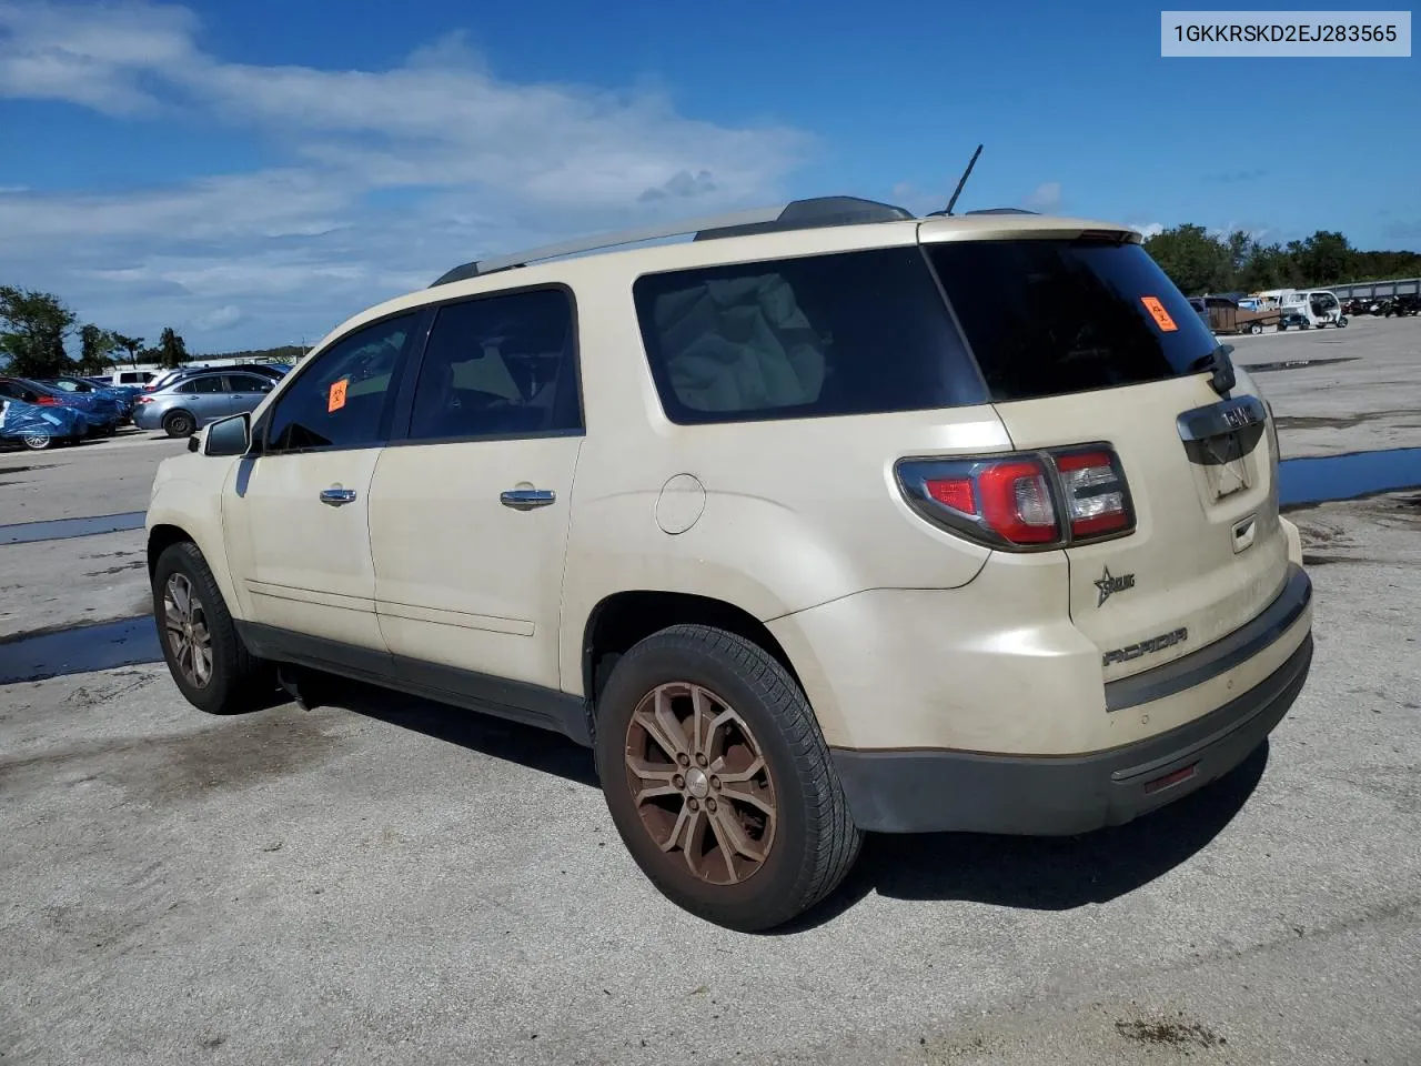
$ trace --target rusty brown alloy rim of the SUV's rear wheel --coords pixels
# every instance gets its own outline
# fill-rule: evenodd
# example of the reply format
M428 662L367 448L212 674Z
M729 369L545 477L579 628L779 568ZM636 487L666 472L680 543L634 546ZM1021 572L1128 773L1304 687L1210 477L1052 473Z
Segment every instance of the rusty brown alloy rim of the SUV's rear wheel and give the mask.
M627 786L647 833L708 884L753 877L770 856L774 779L749 723L691 682L642 696L627 723Z

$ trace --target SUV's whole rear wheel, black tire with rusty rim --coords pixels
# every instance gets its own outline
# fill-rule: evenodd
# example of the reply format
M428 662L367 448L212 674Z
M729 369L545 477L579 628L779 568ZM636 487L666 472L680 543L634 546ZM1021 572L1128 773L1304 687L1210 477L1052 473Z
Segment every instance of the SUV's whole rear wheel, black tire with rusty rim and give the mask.
M809 701L743 637L674 625L637 644L598 699L595 753L642 873L718 925L790 921L858 857L863 833Z

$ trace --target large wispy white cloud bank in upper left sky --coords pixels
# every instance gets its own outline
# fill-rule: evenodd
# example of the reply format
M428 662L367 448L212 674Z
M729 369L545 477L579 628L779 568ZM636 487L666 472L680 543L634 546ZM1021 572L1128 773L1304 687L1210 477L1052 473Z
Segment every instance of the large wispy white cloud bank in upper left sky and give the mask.
M387 70L227 63L190 11L146 3L0 0L6 97L171 112L284 156L136 192L0 198L14 283L125 333L240 307L227 328L254 344L320 334L479 256L774 202L814 149L649 90L499 78L458 34Z

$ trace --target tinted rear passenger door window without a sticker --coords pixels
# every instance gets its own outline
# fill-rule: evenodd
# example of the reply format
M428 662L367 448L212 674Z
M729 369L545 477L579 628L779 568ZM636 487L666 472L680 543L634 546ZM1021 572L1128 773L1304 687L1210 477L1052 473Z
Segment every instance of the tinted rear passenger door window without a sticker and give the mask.
M412 441L581 429L573 306L561 289L439 308L415 385Z

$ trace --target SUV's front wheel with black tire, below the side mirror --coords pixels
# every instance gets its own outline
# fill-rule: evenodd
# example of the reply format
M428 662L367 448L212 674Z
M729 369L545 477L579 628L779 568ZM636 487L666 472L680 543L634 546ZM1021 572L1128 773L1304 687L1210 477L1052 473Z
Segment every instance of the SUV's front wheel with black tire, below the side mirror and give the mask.
M158 557L153 620L168 672L199 711L252 711L273 688L271 668L242 642L207 560L192 542L172 544Z

